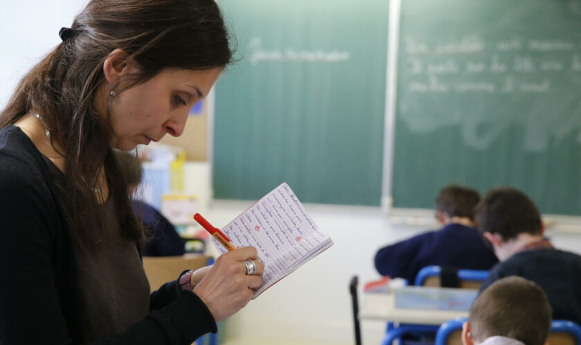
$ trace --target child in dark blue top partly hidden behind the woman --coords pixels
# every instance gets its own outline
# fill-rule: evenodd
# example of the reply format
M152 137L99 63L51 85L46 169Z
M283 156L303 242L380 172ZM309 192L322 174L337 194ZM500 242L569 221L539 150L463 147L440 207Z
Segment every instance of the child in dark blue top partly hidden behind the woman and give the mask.
M119 166L127 182L129 197L137 190L143 172L139 157L129 152L116 150ZM145 201L131 199L133 212L143 222L149 232L145 237L141 254L146 257L183 255L185 241L180 237L174 224L164 217L154 206Z

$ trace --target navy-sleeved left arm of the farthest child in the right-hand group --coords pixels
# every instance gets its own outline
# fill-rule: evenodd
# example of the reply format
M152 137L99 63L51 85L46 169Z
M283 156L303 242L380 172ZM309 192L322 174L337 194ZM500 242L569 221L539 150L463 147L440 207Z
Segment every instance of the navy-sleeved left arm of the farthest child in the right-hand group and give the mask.
M409 284L414 284L416 273L421 269L417 267L416 258L429 235L430 233L417 235L378 250L375 266L379 274L392 278L402 277L407 279Z

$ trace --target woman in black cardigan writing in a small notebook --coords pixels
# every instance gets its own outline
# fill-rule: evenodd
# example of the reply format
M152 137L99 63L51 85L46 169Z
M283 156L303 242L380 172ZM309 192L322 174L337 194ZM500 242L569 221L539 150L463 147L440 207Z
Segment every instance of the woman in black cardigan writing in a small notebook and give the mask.
M221 12L94 0L59 35L0 114L0 343L190 344L248 303L264 266L239 248L150 296L112 150L181 135L232 59Z

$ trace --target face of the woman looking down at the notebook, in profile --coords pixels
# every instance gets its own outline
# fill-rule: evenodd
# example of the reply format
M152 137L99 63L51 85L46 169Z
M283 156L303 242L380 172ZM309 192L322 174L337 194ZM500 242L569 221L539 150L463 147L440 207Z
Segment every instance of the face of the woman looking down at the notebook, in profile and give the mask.
M111 101L111 147L129 151L158 141L166 133L179 137L190 108L208 95L221 72L221 68L162 70L120 92Z

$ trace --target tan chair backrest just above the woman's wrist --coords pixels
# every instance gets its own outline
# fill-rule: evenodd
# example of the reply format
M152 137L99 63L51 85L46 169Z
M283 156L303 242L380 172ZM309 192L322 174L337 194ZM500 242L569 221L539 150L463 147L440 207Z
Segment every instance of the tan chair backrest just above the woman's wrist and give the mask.
M176 257L143 257L143 268L151 291L178 279L184 270L197 270L212 264L210 255L185 255Z

